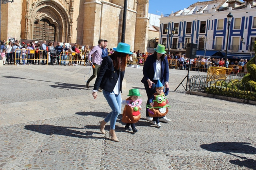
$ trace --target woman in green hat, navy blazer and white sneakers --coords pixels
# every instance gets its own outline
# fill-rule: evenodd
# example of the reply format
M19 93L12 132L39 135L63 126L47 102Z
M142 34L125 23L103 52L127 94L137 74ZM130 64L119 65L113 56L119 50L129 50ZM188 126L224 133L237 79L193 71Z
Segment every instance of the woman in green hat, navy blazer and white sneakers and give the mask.
M164 84L166 88L169 88L169 64L167 57L164 57L166 51L164 51L165 46L158 44L154 49L155 53L148 56L143 66L143 78L141 82L144 84L148 100L156 92L156 83L158 80ZM146 105L149 102L147 101ZM146 120L151 121L153 117L148 115L148 110L146 109ZM169 122L170 119L167 117L160 117L160 121Z

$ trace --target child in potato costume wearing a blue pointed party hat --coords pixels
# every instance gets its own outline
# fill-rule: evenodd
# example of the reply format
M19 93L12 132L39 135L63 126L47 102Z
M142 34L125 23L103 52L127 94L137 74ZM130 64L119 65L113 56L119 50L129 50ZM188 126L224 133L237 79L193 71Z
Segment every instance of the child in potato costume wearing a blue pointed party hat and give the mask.
M168 113L168 107L170 107L167 105L169 102L165 98L168 93L169 88L166 88L164 93L164 85L158 80L156 83L156 92L148 100L148 114L150 117L153 117L152 124L157 125L158 128L162 127L159 117L165 116Z

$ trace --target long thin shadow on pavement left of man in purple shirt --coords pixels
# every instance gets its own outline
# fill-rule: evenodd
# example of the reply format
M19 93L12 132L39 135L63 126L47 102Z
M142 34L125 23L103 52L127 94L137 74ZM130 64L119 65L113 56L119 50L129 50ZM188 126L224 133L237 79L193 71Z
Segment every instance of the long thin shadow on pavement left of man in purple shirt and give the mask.
M14 77L14 76L3 76L5 78L17 78L17 79L24 79L24 80L35 80L35 81L41 81L41 82L52 82L52 81L46 81L46 80L36 80L36 79L30 79L30 78L22 78L22 77ZM52 82L56 85L50 85L53 88L60 88L60 89L75 89L75 90L87 90L85 88L85 85L79 85L79 84L70 84L70 83L62 83L62 82Z

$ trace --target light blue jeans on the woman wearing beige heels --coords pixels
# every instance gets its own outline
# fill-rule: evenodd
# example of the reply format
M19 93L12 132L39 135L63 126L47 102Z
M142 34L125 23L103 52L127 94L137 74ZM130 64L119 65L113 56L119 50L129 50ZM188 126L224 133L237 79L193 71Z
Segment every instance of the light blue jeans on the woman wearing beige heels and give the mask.
M104 121L105 122L110 121L110 129L114 130L117 116L121 113L121 103L122 103L121 93L114 94L113 92L110 93L103 90L103 95L106 98L108 105L112 109L112 111L108 113Z

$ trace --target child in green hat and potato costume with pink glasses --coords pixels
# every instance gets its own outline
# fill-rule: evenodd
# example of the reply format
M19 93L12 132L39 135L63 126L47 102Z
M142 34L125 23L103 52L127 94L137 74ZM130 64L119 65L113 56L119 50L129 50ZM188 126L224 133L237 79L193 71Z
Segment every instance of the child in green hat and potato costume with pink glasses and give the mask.
M125 104L122 122L126 123L124 129L128 131L133 131L134 133L138 132L138 129L135 127L135 123L140 120L140 104L142 103L141 99L138 99L140 92L138 89L130 89L129 98L122 101L122 104ZM132 129L129 127L131 125Z

